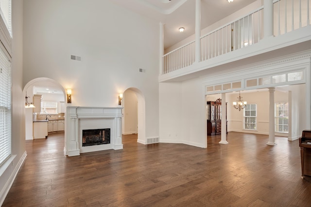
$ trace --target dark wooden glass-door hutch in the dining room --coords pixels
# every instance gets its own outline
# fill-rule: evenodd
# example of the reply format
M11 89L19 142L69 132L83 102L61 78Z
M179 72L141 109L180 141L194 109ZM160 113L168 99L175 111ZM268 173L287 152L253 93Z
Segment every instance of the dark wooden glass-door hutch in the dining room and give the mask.
M221 134L222 132L222 100L207 101L207 135ZM225 132L227 131L227 103L225 103Z

